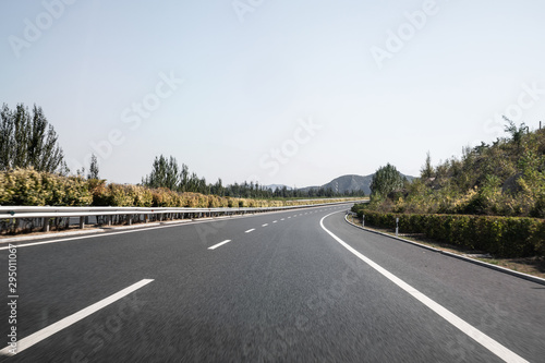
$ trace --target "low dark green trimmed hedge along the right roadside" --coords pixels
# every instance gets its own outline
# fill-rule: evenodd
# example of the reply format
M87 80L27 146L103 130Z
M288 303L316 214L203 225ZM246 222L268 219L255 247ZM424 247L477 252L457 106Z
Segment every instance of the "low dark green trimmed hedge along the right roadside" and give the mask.
M353 208L358 217L365 214L365 225L424 233L441 242L488 252L498 257L545 255L545 220L525 217L471 215L416 215L377 213Z

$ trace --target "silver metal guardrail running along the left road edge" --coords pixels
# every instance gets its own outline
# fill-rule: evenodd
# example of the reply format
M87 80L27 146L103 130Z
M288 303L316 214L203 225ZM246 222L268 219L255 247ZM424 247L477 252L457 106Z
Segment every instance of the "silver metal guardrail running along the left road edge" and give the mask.
M153 217L156 220L162 221L164 219L174 220L174 219L185 219L186 216L190 218L201 218L201 217L219 217L219 216L233 216L233 215L245 215L245 214L256 214L266 211L281 211L299 208L310 208L310 207L320 207L328 205L355 203L359 201L344 201L335 203L320 203L320 204L305 204L296 206L283 206L283 207L257 207L257 208L171 208L171 207L160 207L160 208L145 208L145 207L34 207L34 206L0 206L0 220L12 220L13 223L17 223L19 219L38 219L41 221L43 230L49 231L50 221L56 218L80 218L80 228L85 228L88 217L101 217L105 223L110 226L112 222L112 217L122 217L122 219L128 223L132 225L134 220L141 220L143 216L143 221L148 222ZM1 228L1 227L0 227Z

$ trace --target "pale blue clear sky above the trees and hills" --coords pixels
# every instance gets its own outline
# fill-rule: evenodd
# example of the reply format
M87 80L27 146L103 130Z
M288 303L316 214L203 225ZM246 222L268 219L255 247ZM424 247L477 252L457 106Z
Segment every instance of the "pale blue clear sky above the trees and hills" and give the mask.
M1 1L0 104L43 107L72 171L136 183L417 176L545 121L538 0Z

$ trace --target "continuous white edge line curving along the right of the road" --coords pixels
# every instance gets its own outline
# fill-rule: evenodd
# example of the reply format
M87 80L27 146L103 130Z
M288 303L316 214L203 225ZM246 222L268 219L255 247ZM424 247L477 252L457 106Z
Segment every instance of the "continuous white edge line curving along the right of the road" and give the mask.
M488 349L491 352L493 352L494 354L496 354L501 360L504 360L506 362L513 362L513 363L514 362L528 362L522 356L520 356L517 353L510 351L509 349L507 349L506 347L501 346L499 342L497 342L496 340L492 339L491 337L488 337L487 335L485 335L484 332L482 332L477 328L475 328L472 325L468 324L465 320L463 320L462 318L458 317L457 315L455 315L453 313L451 313L449 310L443 307L441 305L439 305L438 303L436 303L434 300L429 299L428 297L426 297L425 294L423 294L419 290L414 289L412 286L410 286L409 283L407 283L403 280L401 280L396 275L389 273L388 270L386 270L385 268L383 268L380 265L376 264L372 259L365 257L360 252L358 252L352 246L350 246L348 243L346 243L340 238L338 238L337 235L335 235L331 231L329 231L324 226L324 219L326 219L327 217L329 217L331 215L335 215L337 213L338 211L328 214L327 216L325 216L324 218L322 218L322 220L319 221L319 225L320 225L322 229L324 229L329 235L331 235L334 238L334 240L336 240L337 242L339 242L344 249L347 249L348 251L352 252L355 256L358 256L364 263L366 263L367 265L370 265L371 267L373 267L375 270L377 270L378 273L380 273L383 276L385 276L386 278L388 278L390 281L392 281L393 283L396 283L398 287L400 287L401 289L403 289L405 292L408 292L409 294L411 294L413 298L415 298L416 300L419 300L421 303L423 303L424 305L426 305L427 307L429 307L431 310L433 310L437 315L439 315L440 317L443 317L444 319L446 319L448 323L452 324L455 327L457 327L458 329L460 329L462 332L464 332L465 335L468 335L470 338L472 338L473 340L475 340L476 342L479 342L484 348Z

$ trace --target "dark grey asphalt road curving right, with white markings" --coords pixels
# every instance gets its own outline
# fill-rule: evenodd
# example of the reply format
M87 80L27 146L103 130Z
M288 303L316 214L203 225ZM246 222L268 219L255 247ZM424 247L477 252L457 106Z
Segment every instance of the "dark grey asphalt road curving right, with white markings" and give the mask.
M545 362L545 286L353 228L349 207L21 243L14 325L2 250L1 335L24 350L0 361Z

